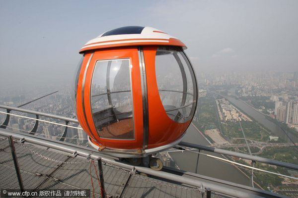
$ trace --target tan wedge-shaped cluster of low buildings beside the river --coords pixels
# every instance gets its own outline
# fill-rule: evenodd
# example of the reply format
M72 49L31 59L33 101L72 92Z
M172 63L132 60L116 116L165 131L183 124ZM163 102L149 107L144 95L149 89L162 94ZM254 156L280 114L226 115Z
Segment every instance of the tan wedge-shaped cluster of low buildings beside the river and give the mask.
M216 105L222 121L252 121L226 99L216 99Z

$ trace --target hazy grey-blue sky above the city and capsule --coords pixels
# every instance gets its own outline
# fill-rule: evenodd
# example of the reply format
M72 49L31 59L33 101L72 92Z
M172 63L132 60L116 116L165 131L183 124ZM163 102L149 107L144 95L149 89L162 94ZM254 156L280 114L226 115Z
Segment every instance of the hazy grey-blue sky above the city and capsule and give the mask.
M101 33L151 26L201 71L298 71L298 0L0 0L0 88L70 84Z

